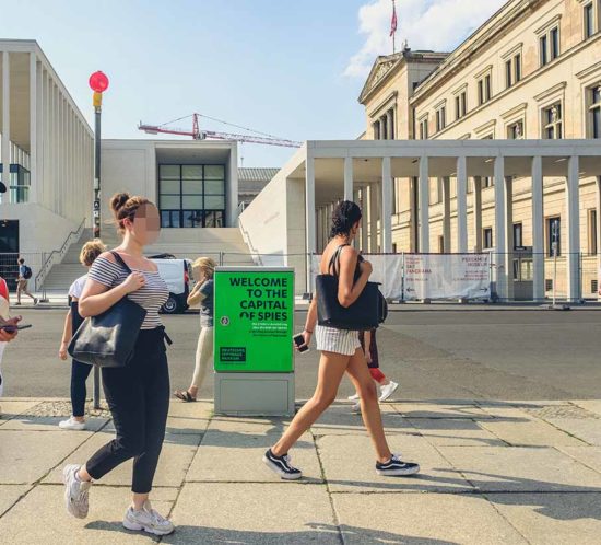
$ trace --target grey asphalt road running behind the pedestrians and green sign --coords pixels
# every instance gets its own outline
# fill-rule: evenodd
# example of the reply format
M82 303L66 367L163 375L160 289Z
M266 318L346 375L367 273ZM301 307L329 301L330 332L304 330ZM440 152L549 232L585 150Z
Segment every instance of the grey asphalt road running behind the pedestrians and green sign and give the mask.
M23 308L23 331L4 353L4 395L69 396L70 363L58 359L62 310ZM297 331L305 313L295 313ZM166 316L172 389L189 384L197 314ZM601 311L478 311L403 306L378 331L380 366L406 399L584 399L601 396ZM296 358L296 397L315 387L318 352ZM91 382L89 383L91 384ZM212 378L200 397L212 397ZM89 390L90 392L90 390ZM340 395L351 386L343 381Z

